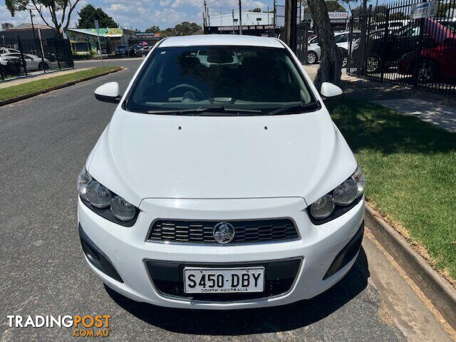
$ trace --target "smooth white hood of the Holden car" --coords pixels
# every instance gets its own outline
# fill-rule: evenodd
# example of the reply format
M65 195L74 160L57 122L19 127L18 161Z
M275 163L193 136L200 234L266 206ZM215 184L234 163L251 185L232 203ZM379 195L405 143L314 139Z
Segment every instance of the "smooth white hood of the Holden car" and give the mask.
M275 116L148 115L116 110L86 165L138 206L145 198L303 197L356 169L326 108Z

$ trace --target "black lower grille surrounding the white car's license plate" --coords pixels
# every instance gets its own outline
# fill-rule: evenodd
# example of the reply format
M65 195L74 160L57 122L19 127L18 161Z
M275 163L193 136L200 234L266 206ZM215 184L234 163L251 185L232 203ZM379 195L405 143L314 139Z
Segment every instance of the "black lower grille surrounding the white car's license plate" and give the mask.
M195 301L239 301L260 299L285 294L291 289L298 274L301 259L266 261L249 264L182 264L170 261L145 261L150 278L160 294ZM186 266L203 268L264 267L264 291L259 293L186 294L183 272Z

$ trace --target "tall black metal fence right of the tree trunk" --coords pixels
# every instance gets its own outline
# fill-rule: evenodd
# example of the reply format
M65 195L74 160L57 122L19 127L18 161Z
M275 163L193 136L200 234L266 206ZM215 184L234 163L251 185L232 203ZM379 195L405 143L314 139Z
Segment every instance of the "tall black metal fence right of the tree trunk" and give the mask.
M419 1L369 6L351 17L349 74L456 93L456 0Z

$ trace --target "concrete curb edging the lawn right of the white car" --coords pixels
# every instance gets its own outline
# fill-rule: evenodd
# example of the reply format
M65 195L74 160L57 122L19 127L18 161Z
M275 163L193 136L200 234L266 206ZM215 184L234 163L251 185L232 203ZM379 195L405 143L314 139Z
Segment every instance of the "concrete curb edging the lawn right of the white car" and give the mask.
M456 329L456 289L427 261L409 247L407 240L386 223L377 212L366 207L366 226L375 239L420 287L432 305Z

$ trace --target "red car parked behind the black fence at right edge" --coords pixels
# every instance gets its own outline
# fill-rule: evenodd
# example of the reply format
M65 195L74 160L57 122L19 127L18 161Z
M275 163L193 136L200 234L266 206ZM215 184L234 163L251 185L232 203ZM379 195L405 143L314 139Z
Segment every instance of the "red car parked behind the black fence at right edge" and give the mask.
M398 72L413 75L418 82L456 78L456 33L432 19L427 21L425 30L432 34L435 46L405 53Z

